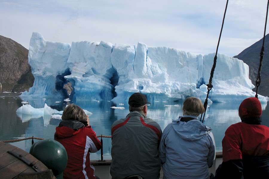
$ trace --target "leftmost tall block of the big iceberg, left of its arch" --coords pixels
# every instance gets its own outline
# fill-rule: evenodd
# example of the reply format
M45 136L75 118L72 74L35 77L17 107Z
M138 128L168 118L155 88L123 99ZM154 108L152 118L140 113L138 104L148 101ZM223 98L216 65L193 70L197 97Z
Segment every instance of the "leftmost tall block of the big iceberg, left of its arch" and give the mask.
M36 34L36 35L34 35ZM33 87L22 93L29 98L68 98L63 88L65 75L70 72L67 60L71 45L46 41L41 34L33 33L30 39L28 63L35 78Z

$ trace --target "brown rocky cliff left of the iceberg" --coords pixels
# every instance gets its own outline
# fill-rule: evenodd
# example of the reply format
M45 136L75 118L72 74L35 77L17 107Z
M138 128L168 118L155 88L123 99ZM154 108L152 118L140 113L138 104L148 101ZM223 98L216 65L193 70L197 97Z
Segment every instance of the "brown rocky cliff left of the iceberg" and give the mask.
M23 92L34 82L28 50L4 36L0 36L0 82L2 92Z

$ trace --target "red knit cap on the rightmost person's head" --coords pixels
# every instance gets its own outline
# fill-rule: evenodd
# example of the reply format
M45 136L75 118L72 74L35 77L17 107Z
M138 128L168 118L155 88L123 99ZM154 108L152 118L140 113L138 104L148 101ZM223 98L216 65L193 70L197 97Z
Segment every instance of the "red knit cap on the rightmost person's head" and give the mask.
M261 117L261 102L258 98L255 97L244 99L244 101L239 106L238 114L240 118Z

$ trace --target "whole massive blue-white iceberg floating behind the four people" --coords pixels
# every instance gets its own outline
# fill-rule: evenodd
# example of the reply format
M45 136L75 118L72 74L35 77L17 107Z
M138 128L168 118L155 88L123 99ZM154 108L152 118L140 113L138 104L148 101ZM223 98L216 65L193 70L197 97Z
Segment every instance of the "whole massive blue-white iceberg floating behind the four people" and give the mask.
M28 62L33 87L21 97L126 101L135 92L149 101L180 101L207 96L215 53L195 55L169 47L80 41L72 45L46 41L34 32ZM217 54L210 102L241 102L254 97L249 67L242 60ZM64 84L70 82L70 95ZM267 97L259 95L266 103Z

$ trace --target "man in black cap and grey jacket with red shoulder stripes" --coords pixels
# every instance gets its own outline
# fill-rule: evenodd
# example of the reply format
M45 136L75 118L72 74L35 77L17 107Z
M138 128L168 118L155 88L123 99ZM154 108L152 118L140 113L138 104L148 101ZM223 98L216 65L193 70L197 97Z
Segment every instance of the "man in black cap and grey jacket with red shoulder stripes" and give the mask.
M112 179L130 175L140 175L144 179L160 177L158 147L162 130L157 122L146 117L148 103L146 95L132 94L128 102L130 113L111 126Z

